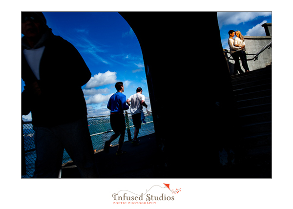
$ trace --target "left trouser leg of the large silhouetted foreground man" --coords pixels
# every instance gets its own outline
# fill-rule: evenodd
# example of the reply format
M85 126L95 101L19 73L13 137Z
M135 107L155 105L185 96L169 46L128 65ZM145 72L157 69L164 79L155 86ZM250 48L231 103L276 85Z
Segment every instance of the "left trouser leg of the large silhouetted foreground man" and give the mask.
M58 178L64 147L54 127L33 127L37 159L34 178Z

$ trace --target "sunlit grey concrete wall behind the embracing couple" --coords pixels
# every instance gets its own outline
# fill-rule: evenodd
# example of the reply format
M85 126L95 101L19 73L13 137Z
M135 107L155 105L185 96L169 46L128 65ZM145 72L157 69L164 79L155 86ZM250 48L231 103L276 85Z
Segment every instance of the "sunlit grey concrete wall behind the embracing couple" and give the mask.
M262 26L264 27L267 36L244 36L246 54L256 54L259 50L272 41L272 23L265 23ZM228 57L230 57L230 54L228 54ZM254 55L247 55L247 59L251 59L253 57ZM228 60L227 62L230 69L230 74L232 74L234 69L234 61ZM263 51L258 56L258 60L247 61L247 63L251 71L270 65L272 63L272 47ZM241 61L240 66L244 71Z

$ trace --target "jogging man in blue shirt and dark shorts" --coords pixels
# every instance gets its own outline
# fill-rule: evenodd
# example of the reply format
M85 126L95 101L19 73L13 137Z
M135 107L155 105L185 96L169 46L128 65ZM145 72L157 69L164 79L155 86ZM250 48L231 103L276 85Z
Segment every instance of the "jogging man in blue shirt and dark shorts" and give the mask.
M109 152L109 146L112 141L119 138L118 142L118 150L116 152L116 155L121 155L126 153L126 151L122 151L122 145L124 143L124 136L125 136L125 118L124 118L124 110L127 110L129 106L126 104L126 96L122 93L124 92L124 86L122 82L117 82L115 84L115 88L117 89L117 92L113 94L108 102L107 108L111 110L110 115L110 124L114 131L114 134L111 136L111 138L105 142L104 150L105 152Z

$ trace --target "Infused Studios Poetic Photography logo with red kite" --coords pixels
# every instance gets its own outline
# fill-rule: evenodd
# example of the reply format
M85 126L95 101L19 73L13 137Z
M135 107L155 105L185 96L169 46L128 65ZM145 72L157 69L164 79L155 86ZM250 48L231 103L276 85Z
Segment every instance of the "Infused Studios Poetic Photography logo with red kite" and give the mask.
M170 184L163 184L165 187L160 185L154 185L145 193L136 194L128 190L120 190L117 193L113 193L113 204L114 205L156 205L158 202L162 201L174 201L175 195L181 191L181 188L170 189ZM163 186L162 185L162 186ZM169 189L169 190L167 190ZM152 193L149 191L152 190ZM170 193L171 191L171 193ZM172 195L175 194L175 195Z

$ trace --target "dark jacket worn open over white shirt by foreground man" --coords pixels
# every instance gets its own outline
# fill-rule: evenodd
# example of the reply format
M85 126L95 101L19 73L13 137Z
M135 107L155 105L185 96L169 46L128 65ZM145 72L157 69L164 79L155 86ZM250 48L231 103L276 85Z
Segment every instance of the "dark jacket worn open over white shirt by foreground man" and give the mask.
M40 62L40 80L37 80L23 54L29 49L22 38L21 77L25 85L37 82L42 94L34 96L24 86L21 95L22 115L32 113L36 126L54 126L86 117L86 104L82 86L91 73L77 49L51 30L43 35L41 43L45 49ZM36 47L35 47L36 48Z

